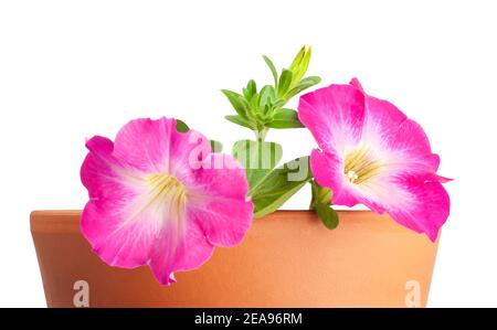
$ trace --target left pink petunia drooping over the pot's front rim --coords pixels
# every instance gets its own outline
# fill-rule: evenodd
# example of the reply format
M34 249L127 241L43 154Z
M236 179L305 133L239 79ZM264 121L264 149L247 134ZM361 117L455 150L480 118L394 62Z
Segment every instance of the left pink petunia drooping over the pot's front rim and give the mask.
M137 119L115 142L94 137L81 169L89 201L81 228L108 265L148 265L160 284L200 267L214 246L234 246L252 223L245 170L211 153L197 131L175 119Z

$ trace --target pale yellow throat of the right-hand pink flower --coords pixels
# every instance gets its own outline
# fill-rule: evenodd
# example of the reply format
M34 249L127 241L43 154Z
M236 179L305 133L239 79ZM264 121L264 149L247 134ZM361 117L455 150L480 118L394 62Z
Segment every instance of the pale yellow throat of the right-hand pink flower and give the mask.
M343 173L350 183L359 184L378 174L381 167L371 150L362 147L347 155Z

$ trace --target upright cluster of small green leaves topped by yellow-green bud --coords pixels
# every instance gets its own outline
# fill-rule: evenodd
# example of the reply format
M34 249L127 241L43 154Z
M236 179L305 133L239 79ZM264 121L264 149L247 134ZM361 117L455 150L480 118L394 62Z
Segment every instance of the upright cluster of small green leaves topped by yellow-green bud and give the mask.
M283 68L281 75L269 57L263 56L271 70L274 84L265 85L257 92L256 83L251 79L242 89L242 94L222 89L236 111L236 115L229 115L225 118L257 132L268 128L303 127L297 113L285 108L285 105L292 97L320 82L317 76L303 78L309 65L310 54L310 47L304 46L289 68Z

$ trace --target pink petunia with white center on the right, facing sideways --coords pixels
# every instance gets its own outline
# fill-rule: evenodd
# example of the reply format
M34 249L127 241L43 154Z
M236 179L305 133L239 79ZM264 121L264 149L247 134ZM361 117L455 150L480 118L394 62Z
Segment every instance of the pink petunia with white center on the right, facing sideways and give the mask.
M332 190L332 202L364 204L435 241L450 213L432 153L419 124L394 105L367 95L357 79L300 97L300 121L320 150L310 155L316 181Z

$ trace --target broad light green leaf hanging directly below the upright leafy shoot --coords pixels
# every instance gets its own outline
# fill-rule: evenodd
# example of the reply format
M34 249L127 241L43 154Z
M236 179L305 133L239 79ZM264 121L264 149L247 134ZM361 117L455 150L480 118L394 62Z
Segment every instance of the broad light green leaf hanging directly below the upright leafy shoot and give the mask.
M245 168L251 190L278 164L282 155L282 146L275 142L240 140L233 145L233 157Z

